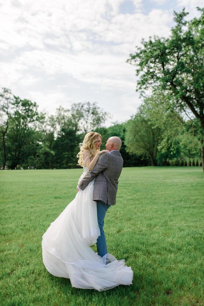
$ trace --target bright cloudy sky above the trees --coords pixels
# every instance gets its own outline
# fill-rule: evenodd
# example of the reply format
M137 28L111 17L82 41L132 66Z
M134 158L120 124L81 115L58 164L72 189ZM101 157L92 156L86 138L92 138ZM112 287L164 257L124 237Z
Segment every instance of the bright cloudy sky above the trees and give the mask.
M141 39L167 37L173 10L199 16L204 0L0 0L0 87L54 114L60 105L97 102L111 121L141 103L135 67Z

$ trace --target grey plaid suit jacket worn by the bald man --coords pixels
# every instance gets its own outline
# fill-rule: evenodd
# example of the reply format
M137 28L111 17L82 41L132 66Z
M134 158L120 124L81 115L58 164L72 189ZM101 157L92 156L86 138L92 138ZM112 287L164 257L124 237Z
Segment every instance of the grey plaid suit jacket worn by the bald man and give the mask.
M118 179L123 168L123 158L119 151L102 153L95 167L88 171L80 180L79 187L84 190L96 177L94 182L93 200L99 200L108 205L115 205L118 189Z

